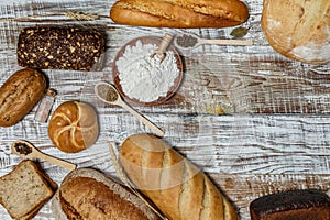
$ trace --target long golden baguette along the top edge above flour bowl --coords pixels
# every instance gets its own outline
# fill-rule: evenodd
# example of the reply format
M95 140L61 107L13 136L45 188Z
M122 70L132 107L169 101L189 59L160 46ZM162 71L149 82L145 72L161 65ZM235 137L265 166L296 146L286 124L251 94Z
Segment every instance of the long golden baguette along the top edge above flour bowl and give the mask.
M119 0L110 18L135 26L224 28L246 21L249 10L239 0Z

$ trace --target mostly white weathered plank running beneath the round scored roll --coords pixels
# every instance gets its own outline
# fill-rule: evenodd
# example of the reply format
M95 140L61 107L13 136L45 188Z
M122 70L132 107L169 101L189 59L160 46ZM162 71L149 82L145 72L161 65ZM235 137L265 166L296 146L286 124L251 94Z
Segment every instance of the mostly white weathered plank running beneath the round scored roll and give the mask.
M100 110L100 108L98 109ZM102 110L101 110L102 111ZM210 173L231 174L329 174L329 117L300 116L202 116L168 114L148 117L165 131L165 140L187 158ZM9 145L28 139L58 157L92 160L107 157L108 142L118 145L130 134L151 132L128 113L100 116L101 133L95 147L67 155L52 147L47 124L28 117L14 129L1 129L1 161L12 166ZM33 133L37 133L35 136ZM2 165L2 172L8 166ZM11 168L11 167L9 167Z

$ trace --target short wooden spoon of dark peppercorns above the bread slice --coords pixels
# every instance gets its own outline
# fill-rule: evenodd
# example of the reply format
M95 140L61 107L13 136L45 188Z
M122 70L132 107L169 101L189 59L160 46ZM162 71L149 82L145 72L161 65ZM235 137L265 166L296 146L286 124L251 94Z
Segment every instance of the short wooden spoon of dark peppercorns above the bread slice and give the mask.
M52 164L58 165L63 168L66 168L68 170L74 170L77 165L63 161L61 158L56 158L54 156L51 156L48 154L42 153L38 151L33 144L29 143L28 141L15 141L11 144L11 151L19 155L22 158L41 158L44 161L47 161Z

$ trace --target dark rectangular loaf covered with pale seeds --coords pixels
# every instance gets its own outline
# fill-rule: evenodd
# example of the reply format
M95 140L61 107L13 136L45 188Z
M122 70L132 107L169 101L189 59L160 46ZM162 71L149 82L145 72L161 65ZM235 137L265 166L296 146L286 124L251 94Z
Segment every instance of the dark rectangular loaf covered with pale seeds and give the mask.
M105 41L105 34L94 29L25 28L19 36L18 63L40 69L99 70Z

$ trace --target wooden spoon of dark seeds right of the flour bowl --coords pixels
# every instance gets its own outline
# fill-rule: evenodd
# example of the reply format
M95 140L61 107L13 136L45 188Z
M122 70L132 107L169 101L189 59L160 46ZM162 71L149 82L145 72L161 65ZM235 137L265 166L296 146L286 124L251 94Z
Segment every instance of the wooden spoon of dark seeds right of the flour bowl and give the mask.
M191 50L202 44L218 44L218 45L238 45L248 46L253 42L250 40L209 40L200 38L199 36L190 33L183 33L175 36L174 45L182 50Z

